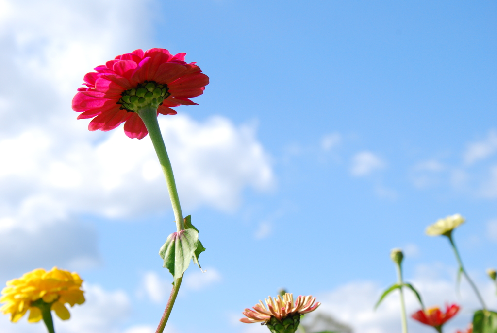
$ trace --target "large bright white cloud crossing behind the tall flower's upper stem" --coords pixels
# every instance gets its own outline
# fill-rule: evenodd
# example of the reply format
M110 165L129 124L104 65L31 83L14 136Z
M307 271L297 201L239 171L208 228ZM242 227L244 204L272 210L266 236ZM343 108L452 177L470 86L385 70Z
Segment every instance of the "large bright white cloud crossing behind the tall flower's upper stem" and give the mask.
M244 188L272 186L269 158L254 128L222 117L201 123L186 115L162 117L160 125L186 208L233 210ZM42 130L0 140L0 153L9 161L0 166L0 198L9 211L40 196L66 214L123 217L168 209L149 138L130 139L118 128L96 144L73 140L61 147L60 140Z

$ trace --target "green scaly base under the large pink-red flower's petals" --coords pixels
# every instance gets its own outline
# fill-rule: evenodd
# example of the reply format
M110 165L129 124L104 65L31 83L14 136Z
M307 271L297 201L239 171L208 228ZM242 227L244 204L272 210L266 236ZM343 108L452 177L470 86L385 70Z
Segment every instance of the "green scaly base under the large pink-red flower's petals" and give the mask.
M137 112L145 107L157 109L171 95L168 91L167 85L145 81L136 88L124 91L117 104L121 104L120 110L128 112Z

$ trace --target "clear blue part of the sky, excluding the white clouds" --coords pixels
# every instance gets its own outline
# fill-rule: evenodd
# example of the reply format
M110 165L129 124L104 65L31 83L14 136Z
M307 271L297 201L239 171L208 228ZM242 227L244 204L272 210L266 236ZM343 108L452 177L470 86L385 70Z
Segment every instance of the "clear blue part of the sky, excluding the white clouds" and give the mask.
M306 295L354 281L385 287L395 279L394 247L412 250L408 279L419 265L455 268L447 242L424 235L455 213L468 219L455 233L468 269L485 281L484 270L497 266L495 1L141 5L148 17L127 8L126 19L152 24L145 42L132 36L131 44L187 52L210 77L200 106L178 113L256 126L275 179L268 191L244 189L230 212L208 205L185 212L207 248L201 263L221 281L180 295L170 319L179 332L239 332L232 314L281 287ZM328 149L327 136L336 139ZM490 148L473 161L474 143ZM377 164L354 175L361 152ZM144 272L169 279L158 255L174 231L166 198L160 213L74 218L97 235L101 259L83 278L130 295L133 314L123 327L155 325L165 304L136 290Z

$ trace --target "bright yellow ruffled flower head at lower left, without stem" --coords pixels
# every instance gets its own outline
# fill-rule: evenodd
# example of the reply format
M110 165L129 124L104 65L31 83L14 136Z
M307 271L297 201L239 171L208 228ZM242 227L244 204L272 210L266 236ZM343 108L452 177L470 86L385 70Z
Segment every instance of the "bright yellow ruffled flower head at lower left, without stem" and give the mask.
M0 311L4 315L10 314L10 321L17 322L29 309L28 322L35 323L42 319L41 310L37 306L44 302L54 310L62 320L68 320L71 314L64 304L71 307L83 304L84 296L81 290L83 280L78 273L52 268L45 271L43 268L25 273L19 279L7 282L3 288L0 303L5 303ZM37 304L33 304L38 301Z

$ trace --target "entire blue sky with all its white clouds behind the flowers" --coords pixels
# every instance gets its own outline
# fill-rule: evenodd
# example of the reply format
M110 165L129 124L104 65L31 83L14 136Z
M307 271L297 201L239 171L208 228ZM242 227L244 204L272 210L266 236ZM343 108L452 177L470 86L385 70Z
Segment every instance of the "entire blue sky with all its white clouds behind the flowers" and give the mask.
M394 247L428 306L462 305L446 332L465 328L477 300L424 229L467 218L455 239L497 309L496 22L495 1L0 0L0 283L76 270L87 302L57 332L155 332L175 226L152 144L88 131L71 99L93 67L161 47L210 77L199 106L160 116L207 248L167 333L269 332L238 320L280 288L356 333L400 332L397 295L372 309Z

